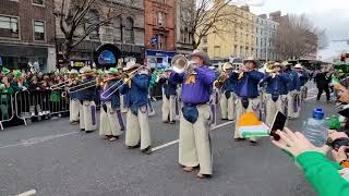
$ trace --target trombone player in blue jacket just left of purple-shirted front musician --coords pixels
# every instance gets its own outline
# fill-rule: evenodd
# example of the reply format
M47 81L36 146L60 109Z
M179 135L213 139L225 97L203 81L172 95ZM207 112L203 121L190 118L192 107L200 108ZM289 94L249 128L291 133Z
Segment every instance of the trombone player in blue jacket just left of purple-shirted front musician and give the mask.
M152 154L152 138L148 124L148 85L149 73L147 69L140 68L141 64L128 62L124 68L125 72L137 71L134 76L125 81L120 93L125 95L127 107L129 108L127 117L125 145L129 149L141 146L143 154ZM142 69L142 70L141 70ZM141 145L140 145L141 142Z

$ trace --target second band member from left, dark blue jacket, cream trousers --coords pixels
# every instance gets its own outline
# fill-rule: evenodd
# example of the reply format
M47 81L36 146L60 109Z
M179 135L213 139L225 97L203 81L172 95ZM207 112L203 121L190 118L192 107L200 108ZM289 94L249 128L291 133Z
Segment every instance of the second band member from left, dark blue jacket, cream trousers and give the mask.
M84 66L80 70L82 75L82 84L95 81L89 66ZM97 130L96 119L96 86L92 86L79 91L80 98L80 128L86 133Z

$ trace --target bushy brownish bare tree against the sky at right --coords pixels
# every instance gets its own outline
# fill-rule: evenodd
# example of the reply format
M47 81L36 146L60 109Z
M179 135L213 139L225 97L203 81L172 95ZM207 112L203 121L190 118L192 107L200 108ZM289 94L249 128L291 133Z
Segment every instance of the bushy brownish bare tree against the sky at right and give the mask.
M282 16L274 41L282 59L300 59L328 45L325 30L315 27L304 14Z

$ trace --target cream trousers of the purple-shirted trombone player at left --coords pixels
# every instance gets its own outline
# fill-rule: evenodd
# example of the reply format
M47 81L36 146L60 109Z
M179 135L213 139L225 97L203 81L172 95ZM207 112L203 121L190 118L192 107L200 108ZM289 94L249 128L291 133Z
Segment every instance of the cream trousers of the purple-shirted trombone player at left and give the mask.
M121 127L118 119L117 110L111 107L111 102L106 102L107 111L100 108L100 125L99 135L121 135Z

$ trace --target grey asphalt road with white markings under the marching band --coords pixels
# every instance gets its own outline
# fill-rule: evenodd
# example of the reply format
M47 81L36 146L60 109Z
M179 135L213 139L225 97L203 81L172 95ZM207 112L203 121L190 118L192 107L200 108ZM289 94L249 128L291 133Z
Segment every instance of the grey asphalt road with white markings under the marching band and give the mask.
M302 122L318 106L327 115L334 113L333 105L311 98L303 105L301 118L289 126L301 130ZM157 147L178 139L179 123L163 124L160 101L155 108L157 114L149 124ZM127 149L123 137L110 143L97 132L81 133L65 118L5 128L0 132L0 196L31 189L40 196L315 195L290 157L268 138L253 147L248 142L234 142L232 132L233 124L212 132L214 176L197 180L197 171L184 173L177 163L177 144L146 156Z

